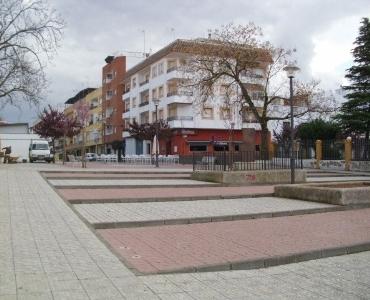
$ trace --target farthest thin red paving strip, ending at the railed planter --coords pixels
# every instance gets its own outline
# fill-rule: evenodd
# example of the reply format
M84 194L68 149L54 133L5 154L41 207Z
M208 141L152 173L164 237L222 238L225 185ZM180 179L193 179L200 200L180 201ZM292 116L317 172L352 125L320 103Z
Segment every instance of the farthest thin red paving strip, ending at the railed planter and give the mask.
M152 178L173 178L173 177L182 177L189 178L190 174L153 174L153 173L142 173L142 174L109 174L109 173L44 173L46 178L143 178L143 177L152 177Z

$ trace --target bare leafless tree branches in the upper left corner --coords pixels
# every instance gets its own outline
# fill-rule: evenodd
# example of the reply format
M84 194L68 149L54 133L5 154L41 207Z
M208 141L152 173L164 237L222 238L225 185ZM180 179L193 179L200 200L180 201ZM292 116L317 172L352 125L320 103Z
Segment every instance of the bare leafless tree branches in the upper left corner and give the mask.
M63 27L46 0L0 0L0 108L39 103Z

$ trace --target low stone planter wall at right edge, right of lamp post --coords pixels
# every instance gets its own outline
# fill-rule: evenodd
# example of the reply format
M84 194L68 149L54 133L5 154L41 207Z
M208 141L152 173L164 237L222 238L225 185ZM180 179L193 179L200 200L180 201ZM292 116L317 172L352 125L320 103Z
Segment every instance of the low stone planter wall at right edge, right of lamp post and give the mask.
M355 205L370 203L370 182L341 182L305 185L280 185L275 187L275 196L298 200Z

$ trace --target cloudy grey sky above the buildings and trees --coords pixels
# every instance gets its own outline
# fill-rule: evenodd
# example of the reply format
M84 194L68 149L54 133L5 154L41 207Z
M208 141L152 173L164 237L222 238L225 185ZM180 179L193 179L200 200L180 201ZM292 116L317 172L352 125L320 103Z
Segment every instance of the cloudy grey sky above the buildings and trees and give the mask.
M66 21L61 47L46 68L47 104L63 103L86 87L101 85L108 55L127 55L128 68L140 59L128 52L154 53L177 38L207 37L208 30L233 22L254 22L275 46L295 48L302 78L335 90L345 83L351 49L368 0L49 0ZM40 108L6 107L0 117L29 122Z

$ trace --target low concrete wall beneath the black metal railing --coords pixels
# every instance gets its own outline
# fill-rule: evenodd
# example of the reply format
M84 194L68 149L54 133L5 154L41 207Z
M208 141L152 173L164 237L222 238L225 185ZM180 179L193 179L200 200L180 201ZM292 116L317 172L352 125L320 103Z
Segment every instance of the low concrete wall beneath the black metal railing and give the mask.
M279 184L290 183L290 170L195 171L191 178L231 185ZM306 171L295 170L295 181L306 182Z

